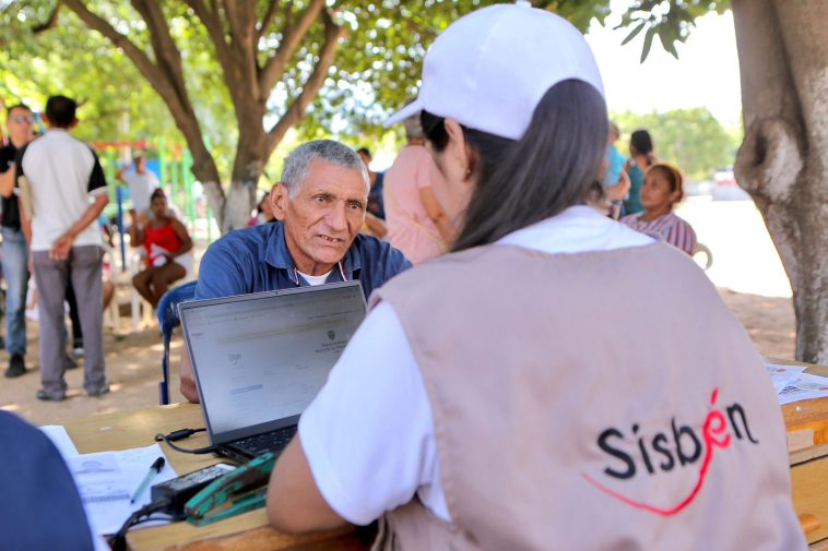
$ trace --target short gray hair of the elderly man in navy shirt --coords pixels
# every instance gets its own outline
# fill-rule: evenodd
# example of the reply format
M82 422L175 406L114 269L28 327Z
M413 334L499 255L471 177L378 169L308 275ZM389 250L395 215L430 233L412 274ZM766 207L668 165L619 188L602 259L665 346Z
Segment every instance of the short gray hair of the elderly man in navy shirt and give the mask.
M368 168L354 149L333 140L315 140L299 145L285 159L285 166L282 169L282 183L287 188L291 199L295 197L301 188L314 159L323 160L342 168L359 170L363 180L365 180L366 194L370 191Z

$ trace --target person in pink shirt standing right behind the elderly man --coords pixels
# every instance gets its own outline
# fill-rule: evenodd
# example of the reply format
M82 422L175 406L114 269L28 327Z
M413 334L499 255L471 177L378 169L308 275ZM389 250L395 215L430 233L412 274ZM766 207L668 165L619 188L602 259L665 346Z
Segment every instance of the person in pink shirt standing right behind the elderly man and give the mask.
M407 144L386 171L388 241L414 264L443 254L454 229L437 201L440 177L425 148L418 117L403 121Z

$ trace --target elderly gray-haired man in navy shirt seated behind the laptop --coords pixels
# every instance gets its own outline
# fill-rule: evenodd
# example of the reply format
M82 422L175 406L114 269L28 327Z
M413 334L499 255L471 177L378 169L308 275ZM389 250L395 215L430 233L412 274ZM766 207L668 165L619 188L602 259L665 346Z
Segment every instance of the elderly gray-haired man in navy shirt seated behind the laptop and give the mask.
M368 297L411 266L379 239L359 235L368 203L359 156L331 140L308 142L285 159L270 202L276 220L224 236L199 268L196 298L229 297L358 279ZM181 394L198 402L192 366L181 356Z

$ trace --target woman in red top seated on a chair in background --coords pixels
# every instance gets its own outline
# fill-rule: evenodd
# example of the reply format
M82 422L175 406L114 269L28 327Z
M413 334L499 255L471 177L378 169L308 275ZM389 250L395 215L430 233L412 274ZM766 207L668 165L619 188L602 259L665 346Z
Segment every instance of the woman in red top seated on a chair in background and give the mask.
M167 196L161 189L150 197L150 219L137 219L129 229L133 247L146 249L146 269L132 278L132 285L153 308L169 288L192 268L192 240L184 224L169 215Z

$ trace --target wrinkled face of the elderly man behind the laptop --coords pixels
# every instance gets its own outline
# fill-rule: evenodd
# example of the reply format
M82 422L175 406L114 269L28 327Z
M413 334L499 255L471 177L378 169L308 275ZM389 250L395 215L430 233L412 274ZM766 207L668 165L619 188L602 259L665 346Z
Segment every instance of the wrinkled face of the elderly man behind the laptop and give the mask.
M281 183L271 196L296 269L322 275L342 260L359 232L368 189L360 170L314 159L294 197Z

